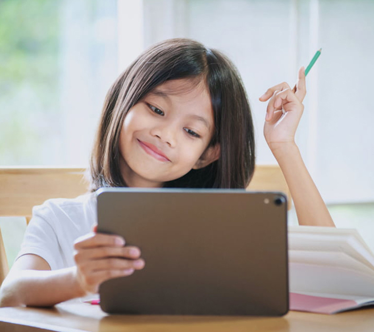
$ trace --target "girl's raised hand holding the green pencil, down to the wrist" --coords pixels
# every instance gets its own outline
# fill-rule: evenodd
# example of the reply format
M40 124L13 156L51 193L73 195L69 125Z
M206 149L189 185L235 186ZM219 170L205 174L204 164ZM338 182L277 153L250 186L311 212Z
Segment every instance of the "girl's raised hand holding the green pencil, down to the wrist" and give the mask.
M295 132L304 110L302 101L306 94L305 69L299 69L296 90L287 83L268 89L259 99L269 100L263 128L265 139L273 151L284 143L295 142Z

